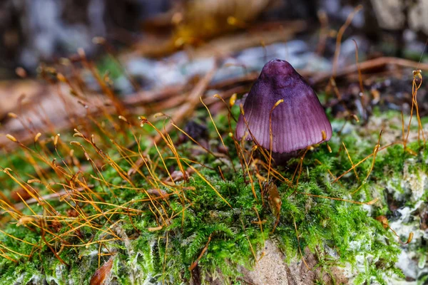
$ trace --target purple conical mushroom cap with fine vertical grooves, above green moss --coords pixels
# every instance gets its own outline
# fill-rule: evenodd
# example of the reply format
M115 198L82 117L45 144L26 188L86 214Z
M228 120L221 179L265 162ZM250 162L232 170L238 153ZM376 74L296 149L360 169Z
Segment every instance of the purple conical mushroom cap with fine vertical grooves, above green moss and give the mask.
M281 99L284 102L272 111ZM248 127L241 114L236 137L241 140L246 135L246 140L252 140L251 133L266 149L270 149L272 111L272 152L302 150L332 136L332 125L317 94L287 61L273 59L265 64L243 108Z

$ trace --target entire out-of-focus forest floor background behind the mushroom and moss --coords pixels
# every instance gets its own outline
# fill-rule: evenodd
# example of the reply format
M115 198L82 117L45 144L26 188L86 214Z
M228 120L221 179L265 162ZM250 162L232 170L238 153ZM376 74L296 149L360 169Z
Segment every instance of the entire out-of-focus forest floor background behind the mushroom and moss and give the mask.
M428 0L1 0L0 135L22 138L25 120L32 132L48 120L73 125L86 114L81 105L98 99L121 98L131 113L173 108L213 66L205 93L243 94L272 58L289 61L318 91L337 75L347 108L363 119L379 94L387 108L406 111L412 70L427 68L426 19ZM357 59L370 104L355 101ZM390 64L410 70L391 76ZM337 102L326 104L340 113Z

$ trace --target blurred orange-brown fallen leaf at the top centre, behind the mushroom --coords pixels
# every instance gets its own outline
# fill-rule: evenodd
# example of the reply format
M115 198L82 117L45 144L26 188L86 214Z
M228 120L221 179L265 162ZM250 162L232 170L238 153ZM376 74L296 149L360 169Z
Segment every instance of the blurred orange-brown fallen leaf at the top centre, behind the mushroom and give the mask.
M209 38L248 28L249 23L272 6L271 0L176 2L168 13L154 17L147 23L152 28L162 26L165 29L170 26L171 36L159 38L158 33L149 33L148 41L146 38L132 50L140 55L162 57L189 44L198 46Z

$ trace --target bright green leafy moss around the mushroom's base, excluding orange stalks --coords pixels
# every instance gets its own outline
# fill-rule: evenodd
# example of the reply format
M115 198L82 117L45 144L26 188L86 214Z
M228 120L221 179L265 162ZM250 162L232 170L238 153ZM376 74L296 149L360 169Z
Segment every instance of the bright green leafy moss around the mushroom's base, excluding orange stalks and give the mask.
M233 114L237 116L238 113L239 110L233 108ZM254 183L251 185L248 175L244 174L240 166L238 155L234 151L234 142L228 137L230 127L227 115L218 116L215 123L220 133L225 134L223 138L232 160L220 160L205 152L194 154L191 142L178 146L183 157L198 162L192 164L198 173L191 175L188 182L178 182L176 188L161 185L161 189L170 194L173 189L177 191L166 201L157 200L155 204L143 201L147 199L143 190L148 190L153 185L141 175L135 175L131 185L123 180L123 177L119 177L113 167L104 165L101 175L108 182L107 186L102 180L93 179L96 175L100 177L100 173L89 168L85 173L86 182L94 185L93 192L102 197L103 203L97 204L96 208L81 202L78 206L84 209L86 217L99 214L100 211L114 212L117 205L126 204L131 199L136 202L128 203L126 207L141 212L133 215L126 214L125 211L106 214L93 220L96 229L88 227L85 220L81 219L78 223L81 227L78 233L76 232L76 237L66 240L70 247L63 248L59 254L68 266L61 264L46 247L39 229L34 228L31 231L26 227L17 227L16 224L4 225L8 234L37 244L41 249L34 251L31 245L0 234L1 244L21 254L31 255L24 258L17 254L8 254L16 259L18 264L0 257L0 284L26 284L30 280L37 284L36 280L41 279L56 284L66 284L68 279L76 284L88 284L93 272L98 268L98 252L114 255L112 278L121 284L132 284L133 280L137 279L142 280L142 283L187 283L192 278L189 267L198 260L205 247L205 254L198 260L201 276L218 275L228 283L238 284L241 274L239 266L251 269L255 264L254 254L266 239L275 239L289 262L301 259L300 251L304 252L307 248L317 255L319 266L325 271L329 271L332 266L350 264L359 274L355 284L364 284L370 280L383 284L384 276L399 274L394 267L400 250L396 239L374 218L389 214L384 195L385 185L392 178L399 180L402 177L404 164L409 160L427 160L427 151L419 148L417 143L412 143L409 145L410 149L419 154L414 157L409 152L404 152L402 145L393 145L379 151L370 175L368 173L372 167L372 157L355 168L356 174L350 171L335 182L335 177L352 167L342 142L356 163L373 152L378 134L373 133L362 138L354 131L335 138L330 142L332 153L325 145L317 147L308 152L303 160L298 185L290 187L286 183L272 180L272 183L277 185L282 200L280 220L273 232L275 214L268 206L267 195L261 194L263 189L260 189L257 177L252 177ZM209 139L220 145L212 123L208 123L208 130ZM148 128L144 132L147 134L152 130ZM173 135L173 138L176 138L176 135ZM146 141L142 140L142 144ZM121 156L114 151L115 148L108 146L106 142L107 140L103 140L103 149L108 149L109 155L118 161L123 171L128 170L126 160L121 160ZM163 146L160 146L160 150L166 169L178 170L177 161L170 158L173 153ZM156 175L164 180L168 177L168 172L163 167L158 152L153 147L148 154L151 162L158 165L155 169ZM2 167L9 167L11 164L27 167L21 157L10 160L1 164ZM181 162L185 165L188 161L183 159ZM288 167L280 167L280 174L292 180L299 162L299 159L292 160ZM30 168L25 169L28 173L33 171ZM224 180L218 169L222 171ZM419 166L409 168L410 172L417 170ZM422 170L427 171L427 167L422 166ZM149 175L148 170L142 171L143 174ZM262 171L261 175L266 176L266 173ZM1 182L13 184L6 180L4 175ZM264 188L263 183L261 185ZM85 195L100 202L95 195ZM338 200L367 202L374 198L378 198L379 202L370 207ZM67 203L58 200L50 203L59 214L66 216L66 211L70 208ZM32 208L41 214L40 206ZM29 209L25 210L25 214L31 214ZM263 221L263 231L258 224L260 221ZM64 234L77 225L73 226L67 222L61 224L62 227L56 234ZM163 224L161 229L151 229L159 224ZM114 239L115 236L120 239ZM52 235L47 234L47 237L51 238ZM81 247L81 239L85 242L95 242ZM103 242L103 247L100 247L96 241L101 240L109 241ZM54 244L54 247L58 252L61 244ZM328 249L335 254L330 254ZM100 264L108 258L108 255L100 257ZM360 268L361 265L364 266L363 269Z

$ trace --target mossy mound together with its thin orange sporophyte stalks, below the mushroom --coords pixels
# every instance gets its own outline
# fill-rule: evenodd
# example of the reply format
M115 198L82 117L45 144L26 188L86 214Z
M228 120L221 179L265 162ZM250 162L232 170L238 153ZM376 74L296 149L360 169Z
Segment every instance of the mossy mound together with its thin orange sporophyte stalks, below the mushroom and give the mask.
M399 239L411 233L385 222L388 199L407 191L393 181L427 173L424 142L332 119L330 147L273 167L269 151L235 138L241 111L231 105L166 133L165 116L122 115L33 145L15 138L0 161L0 284L245 284L267 242L288 264L320 271L319 283L336 269L353 284L402 278Z

